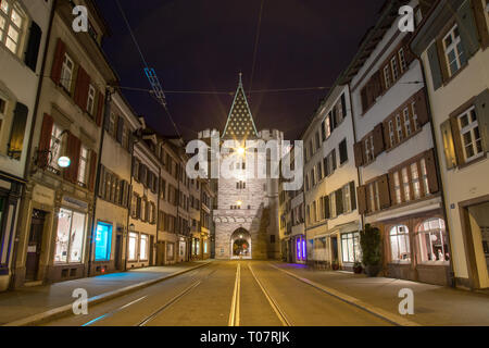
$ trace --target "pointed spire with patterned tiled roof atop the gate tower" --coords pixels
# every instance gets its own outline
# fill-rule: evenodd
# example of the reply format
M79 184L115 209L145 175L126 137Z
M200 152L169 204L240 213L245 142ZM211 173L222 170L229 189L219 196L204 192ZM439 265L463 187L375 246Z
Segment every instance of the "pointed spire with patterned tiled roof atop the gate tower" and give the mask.
M242 73L239 73L238 89L227 116L222 138L249 139L256 138L258 132L242 87Z

